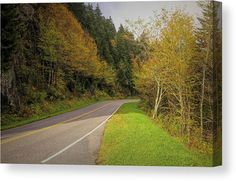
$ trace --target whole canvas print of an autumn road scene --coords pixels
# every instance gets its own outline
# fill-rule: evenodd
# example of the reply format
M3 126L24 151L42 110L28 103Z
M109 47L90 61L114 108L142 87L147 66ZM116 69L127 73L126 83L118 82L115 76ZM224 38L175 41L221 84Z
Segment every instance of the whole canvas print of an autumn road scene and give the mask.
M222 163L215 1L1 4L1 163Z

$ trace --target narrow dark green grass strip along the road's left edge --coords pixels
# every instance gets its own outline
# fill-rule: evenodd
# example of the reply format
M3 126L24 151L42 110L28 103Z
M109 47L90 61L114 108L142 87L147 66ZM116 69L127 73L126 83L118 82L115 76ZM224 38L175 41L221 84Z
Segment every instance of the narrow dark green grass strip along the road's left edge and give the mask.
M107 100L107 98L100 99L71 99L56 101L51 103L44 103L41 105L34 105L30 109L34 110L34 113L29 117L18 117L16 115L2 114L1 115L1 130L15 128L25 124L32 123L34 121L42 120L48 117L70 112L88 105L94 104L95 102Z

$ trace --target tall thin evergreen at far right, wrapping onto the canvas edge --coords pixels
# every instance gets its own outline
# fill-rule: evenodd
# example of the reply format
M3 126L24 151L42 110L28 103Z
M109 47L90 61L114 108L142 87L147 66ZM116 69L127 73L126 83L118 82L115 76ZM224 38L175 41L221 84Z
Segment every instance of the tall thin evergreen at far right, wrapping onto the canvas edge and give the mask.
M202 139L207 130L217 132L221 112L221 30L219 6L214 2L198 2L203 16L198 18L200 27L196 31L201 65L200 125ZM215 54L215 55L214 55ZM217 68L216 68L217 67ZM214 96L215 95L215 96ZM214 102L214 99L216 102ZM217 116L214 119L214 105ZM216 120L216 121L214 121Z

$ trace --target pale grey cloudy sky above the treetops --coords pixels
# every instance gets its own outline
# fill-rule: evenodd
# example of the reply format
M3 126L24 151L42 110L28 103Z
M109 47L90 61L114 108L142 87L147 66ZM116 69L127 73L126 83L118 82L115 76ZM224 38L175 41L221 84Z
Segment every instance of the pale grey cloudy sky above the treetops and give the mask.
M93 6L96 4L93 3ZM148 21L153 11L160 12L163 8L182 9L195 17L201 14L195 1L99 2L98 5L105 17L111 16L117 30L120 24L125 24L126 19L137 20L140 17Z

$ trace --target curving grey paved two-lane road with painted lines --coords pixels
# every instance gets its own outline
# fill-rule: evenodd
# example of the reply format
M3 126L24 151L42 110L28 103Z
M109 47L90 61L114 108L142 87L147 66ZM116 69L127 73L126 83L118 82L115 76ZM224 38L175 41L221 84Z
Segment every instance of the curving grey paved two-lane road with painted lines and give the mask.
M95 164L105 123L124 103L99 102L1 132L2 163Z

